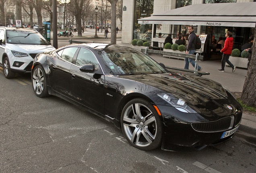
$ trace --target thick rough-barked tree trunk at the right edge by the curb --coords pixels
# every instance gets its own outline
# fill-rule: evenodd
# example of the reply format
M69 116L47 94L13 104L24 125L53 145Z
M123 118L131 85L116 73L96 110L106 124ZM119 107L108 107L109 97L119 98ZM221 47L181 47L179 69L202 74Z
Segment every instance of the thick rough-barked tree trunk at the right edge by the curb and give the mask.
M256 107L256 25L254 29L254 42L252 45L252 58L248 68L246 80L242 91L241 101L248 105Z

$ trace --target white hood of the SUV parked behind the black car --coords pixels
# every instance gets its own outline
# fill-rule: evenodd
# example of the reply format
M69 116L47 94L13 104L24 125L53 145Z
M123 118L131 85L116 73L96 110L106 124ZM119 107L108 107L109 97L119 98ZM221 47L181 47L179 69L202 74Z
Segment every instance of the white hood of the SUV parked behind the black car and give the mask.
M51 45L8 44L9 48L23 53L40 53L55 50Z

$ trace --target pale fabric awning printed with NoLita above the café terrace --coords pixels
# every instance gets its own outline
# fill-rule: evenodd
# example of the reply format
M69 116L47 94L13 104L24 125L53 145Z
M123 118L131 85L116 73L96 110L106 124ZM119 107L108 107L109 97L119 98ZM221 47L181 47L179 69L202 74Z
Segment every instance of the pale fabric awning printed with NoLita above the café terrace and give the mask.
M139 24L255 27L256 2L193 4L138 19Z

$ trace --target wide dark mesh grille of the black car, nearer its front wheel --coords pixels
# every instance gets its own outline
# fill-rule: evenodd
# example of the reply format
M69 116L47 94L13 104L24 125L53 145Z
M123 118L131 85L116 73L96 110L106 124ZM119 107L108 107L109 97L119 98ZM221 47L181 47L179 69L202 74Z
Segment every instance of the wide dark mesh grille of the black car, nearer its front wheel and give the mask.
M199 132L218 132L230 129L233 126L233 116L205 123L191 123L193 129Z

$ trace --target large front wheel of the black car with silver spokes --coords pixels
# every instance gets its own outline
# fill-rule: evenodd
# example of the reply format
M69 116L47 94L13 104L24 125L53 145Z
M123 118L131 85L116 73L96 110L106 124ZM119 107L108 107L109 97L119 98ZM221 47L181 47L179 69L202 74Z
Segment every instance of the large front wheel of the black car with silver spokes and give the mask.
M124 106L121 127L126 139L137 149L148 151L161 145L161 119L153 105L144 99L133 99Z

